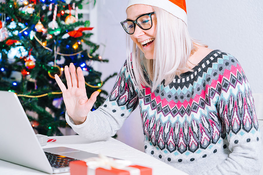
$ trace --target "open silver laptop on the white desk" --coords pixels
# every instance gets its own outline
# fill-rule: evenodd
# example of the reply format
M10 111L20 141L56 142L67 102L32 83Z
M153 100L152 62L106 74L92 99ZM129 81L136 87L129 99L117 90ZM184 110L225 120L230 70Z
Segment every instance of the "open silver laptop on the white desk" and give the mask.
M53 174L69 172L68 163L72 160L98 157L97 154L67 147L42 149L17 95L13 92L0 91L0 121L1 160Z

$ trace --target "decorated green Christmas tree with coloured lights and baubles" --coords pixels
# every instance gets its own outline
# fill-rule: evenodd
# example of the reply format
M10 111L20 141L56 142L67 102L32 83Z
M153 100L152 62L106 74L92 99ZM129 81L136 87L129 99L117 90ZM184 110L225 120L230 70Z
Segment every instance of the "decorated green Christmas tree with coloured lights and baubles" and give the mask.
M92 27L82 21L82 0L9 0L0 3L0 90L15 92L39 134L62 135L67 127L65 105L54 75L66 84L63 67L81 67L87 96L98 90L100 106L107 92L101 90L101 73L95 61L108 62L90 41ZM103 95L104 94L104 95ZM1 99L4 100L4 99Z

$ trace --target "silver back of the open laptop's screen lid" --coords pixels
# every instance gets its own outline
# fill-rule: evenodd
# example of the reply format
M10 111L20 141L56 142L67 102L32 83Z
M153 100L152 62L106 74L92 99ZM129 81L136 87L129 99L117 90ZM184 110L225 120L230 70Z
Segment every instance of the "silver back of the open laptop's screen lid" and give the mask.
M0 91L0 159L52 174L53 170L15 93Z

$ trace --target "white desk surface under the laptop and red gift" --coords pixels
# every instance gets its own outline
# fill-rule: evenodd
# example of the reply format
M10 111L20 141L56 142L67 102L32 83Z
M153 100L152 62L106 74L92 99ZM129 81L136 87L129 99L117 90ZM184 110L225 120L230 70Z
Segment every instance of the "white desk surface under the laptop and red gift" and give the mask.
M66 146L91 153L101 153L106 156L116 157L120 159L130 160L134 164L151 167L153 175L160 174L177 174L187 175L183 171L132 148L116 139L110 138L108 141L90 142L79 135L73 136L54 136L49 137L57 139L56 142L48 143L43 148ZM46 175L46 173L23 167L17 164L0 160L0 174L4 175ZM70 175L70 173L60 173L60 175Z

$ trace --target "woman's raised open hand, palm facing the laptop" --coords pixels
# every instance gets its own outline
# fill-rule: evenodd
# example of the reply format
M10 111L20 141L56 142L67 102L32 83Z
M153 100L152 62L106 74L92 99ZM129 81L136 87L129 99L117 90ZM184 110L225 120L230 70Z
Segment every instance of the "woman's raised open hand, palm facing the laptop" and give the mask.
M78 67L76 72L76 68L73 63L70 63L69 67L65 66L64 73L68 89L62 83L58 75L55 75L55 79L63 93L63 100L68 115L73 119L76 125L79 125L86 120L86 116L93 107L99 92L93 92L91 97L88 99L82 70Z

